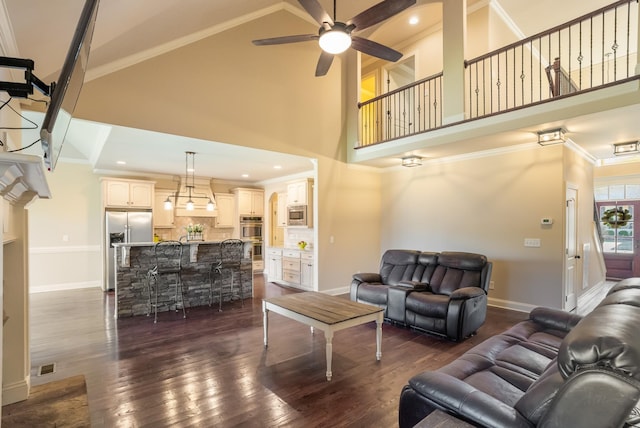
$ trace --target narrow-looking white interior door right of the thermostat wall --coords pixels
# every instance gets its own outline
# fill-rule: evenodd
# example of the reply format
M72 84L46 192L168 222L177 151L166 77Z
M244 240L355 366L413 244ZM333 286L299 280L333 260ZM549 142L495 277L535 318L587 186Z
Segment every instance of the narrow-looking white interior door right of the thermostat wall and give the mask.
M565 213L565 276L564 276L564 306L565 311L576 308L576 286L578 284L578 234L577 211L578 189L567 187L567 205Z

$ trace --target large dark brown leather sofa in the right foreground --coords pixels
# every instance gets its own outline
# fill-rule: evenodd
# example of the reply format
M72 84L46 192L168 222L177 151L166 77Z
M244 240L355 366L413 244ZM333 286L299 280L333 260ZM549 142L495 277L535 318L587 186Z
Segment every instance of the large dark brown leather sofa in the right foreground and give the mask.
M529 319L400 395L400 428L439 409L479 427L623 427L640 423L640 278L616 284L584 317L536 308Z

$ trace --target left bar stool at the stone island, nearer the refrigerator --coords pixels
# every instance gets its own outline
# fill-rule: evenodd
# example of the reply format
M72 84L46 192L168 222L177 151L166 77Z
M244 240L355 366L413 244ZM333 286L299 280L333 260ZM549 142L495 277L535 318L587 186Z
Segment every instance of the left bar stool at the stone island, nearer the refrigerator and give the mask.
M149 311L154 308L153 322L158 321L158 289L160 288L158 280L165 277L168 286L175 286L174 300L176 302L176 312L178 312L178 296L180 296L180 304L182 306L182 317L186 318L184 288L182 284L182 243L179 241L161 241L154 247L154 256L156 264L147 272ZM173 277L173 278L172 278ZM151 302L151 280L153 279L153 288L155 294L155 302ZM173 279L173 284L171 284Z

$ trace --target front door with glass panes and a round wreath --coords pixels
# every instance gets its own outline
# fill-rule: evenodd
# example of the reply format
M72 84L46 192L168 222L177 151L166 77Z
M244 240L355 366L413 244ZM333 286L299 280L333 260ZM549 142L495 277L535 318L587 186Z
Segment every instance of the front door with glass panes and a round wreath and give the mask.
M598 202L607 278L640 276L640 201Z

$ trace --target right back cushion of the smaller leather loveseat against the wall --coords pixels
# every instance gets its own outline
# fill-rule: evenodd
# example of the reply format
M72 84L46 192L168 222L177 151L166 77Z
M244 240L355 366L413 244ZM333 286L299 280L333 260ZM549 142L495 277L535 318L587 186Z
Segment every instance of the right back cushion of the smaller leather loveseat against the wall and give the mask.
M484 288L482 271L486 266L487 258L481 254L442 252L429 285L434 293L446 295L463 287Z

